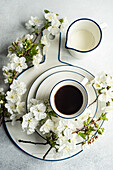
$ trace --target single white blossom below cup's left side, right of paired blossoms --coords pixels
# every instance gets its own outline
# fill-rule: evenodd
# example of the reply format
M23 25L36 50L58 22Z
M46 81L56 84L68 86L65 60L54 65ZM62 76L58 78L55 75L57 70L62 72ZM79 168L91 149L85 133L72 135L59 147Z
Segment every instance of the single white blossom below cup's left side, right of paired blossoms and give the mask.
M53 131L54 129L54 123L51 119L47 119L47 121L40 127L40 131L45 134L49 133L50 130Z

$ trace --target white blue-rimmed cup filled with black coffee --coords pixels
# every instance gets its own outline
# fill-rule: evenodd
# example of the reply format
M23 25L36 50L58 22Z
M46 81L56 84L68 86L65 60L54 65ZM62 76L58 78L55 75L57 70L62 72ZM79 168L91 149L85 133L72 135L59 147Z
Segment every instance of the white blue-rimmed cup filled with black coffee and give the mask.
M88 94L84 87L87 82L87 78L84 78L82 82L73 79L58 82L50 93L52 110L58 116L66 119L81 115L88 104Z

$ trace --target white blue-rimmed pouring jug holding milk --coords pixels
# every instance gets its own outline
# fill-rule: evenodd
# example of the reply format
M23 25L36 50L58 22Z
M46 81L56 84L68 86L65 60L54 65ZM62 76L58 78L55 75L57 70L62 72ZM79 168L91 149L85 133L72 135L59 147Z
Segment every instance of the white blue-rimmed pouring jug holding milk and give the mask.
M89 18L75 20L67 29L65 48L77 58L91 54L101 43L102 27Z

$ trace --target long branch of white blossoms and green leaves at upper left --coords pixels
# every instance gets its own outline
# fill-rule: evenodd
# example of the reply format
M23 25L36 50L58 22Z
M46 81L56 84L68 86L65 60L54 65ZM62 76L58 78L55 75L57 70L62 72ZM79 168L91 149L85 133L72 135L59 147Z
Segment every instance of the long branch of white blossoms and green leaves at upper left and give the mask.
M3 67L5 83L11 84L13 77L16 77L24 69L30 65L39 66L43 60L43 55L47 54L50 46L48 35L42 34L46 29L49 34L58 34L62 31L67 19L58 19L58 14L54 14L45 10L45 20L31 16L30 20L25 24L26 28L31 30L31 34L17 38L15 42L9 46L7 66ZM40 37L39 37L40 36ZM38 38L39 37L39 38ZM36 42L38 38L38 41Z

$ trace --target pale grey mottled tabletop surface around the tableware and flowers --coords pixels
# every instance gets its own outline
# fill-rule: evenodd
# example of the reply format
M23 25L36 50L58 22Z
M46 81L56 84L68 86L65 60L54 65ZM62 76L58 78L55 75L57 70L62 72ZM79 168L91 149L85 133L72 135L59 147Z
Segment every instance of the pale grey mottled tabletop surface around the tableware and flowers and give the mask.
M113 1L112 0L0 0L0 87L6 88L1 68L7 62L7 48L26 30L24 23L30 16L42 17L49 9L67 16L69 21L89 17L99 23L106 22L101 49L95 58L78 65L96 74L113 72ZM113 115L105 123L105 133L91 148L69 160L44 162L32 158L17 148L4 127L0 128L0 170L112 170L113 169Z

